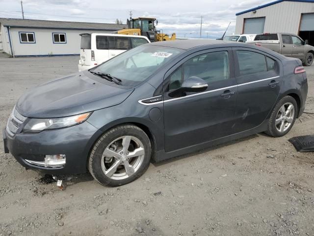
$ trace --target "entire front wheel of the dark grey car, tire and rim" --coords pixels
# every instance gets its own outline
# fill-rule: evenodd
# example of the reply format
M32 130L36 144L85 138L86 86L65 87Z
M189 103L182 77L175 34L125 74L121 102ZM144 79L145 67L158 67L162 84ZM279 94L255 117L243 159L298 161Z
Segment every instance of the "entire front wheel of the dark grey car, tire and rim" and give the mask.
M102 185L124 185L145 173L151 152L150 140L142 129L132 124L119 125L106 131L95 143L88 169Z

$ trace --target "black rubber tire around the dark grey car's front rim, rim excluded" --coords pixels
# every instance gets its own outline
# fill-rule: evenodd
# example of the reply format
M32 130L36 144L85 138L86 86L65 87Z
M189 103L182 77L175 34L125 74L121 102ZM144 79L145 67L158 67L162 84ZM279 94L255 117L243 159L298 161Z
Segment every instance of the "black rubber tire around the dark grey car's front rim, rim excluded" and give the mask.
M101 160L105 148L112 141L122 136L134 136L142 142L144 146L144 160L139 169L133 175L125 179L116 180L105 176L101 167ZM124 185L134 181L145 173L150 164L151 151L152 148L150 140L142 129L132 124L119 125L106 131L105 134L95 143L89 156L88 170L95 180L102 185L108 187Z

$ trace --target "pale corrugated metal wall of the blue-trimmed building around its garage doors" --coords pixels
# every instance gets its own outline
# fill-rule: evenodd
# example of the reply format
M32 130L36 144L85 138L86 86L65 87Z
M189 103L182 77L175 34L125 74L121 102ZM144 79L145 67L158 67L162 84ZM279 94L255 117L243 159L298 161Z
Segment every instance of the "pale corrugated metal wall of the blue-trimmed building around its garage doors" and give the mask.
M236 16L235 33L243 33L244 19L265 17L264 32L287 32L297 34L301 14L314 13L314 3L283 1Z

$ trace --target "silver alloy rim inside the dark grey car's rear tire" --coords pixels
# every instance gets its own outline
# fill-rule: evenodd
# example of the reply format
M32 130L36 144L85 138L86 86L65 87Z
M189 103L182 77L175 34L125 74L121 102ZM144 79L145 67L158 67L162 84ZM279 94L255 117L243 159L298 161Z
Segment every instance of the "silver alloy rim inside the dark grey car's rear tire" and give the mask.
M276 129L279 132L285 132L293 123L294 106L292 103L287 102L281 106L276 116Z

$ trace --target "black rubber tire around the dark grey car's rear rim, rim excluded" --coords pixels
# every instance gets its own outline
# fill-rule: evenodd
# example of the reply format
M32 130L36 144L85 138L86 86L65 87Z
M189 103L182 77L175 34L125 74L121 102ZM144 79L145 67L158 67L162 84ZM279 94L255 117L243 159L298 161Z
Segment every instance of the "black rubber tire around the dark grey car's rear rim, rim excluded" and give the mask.
M284 104L287 104L287 103L291 103L294 107L294 115L293 115L293 120L290 124L290 126L288 127L287 130L283 131L283 132L280 132L277 128L276 128L276 118L278 116L278 112L280 110L280 108L284 105ZM295 99L291 96L285 96L283 97L278 103L277 105L275 106L270 118L269 118L269 121L268 121L268 129L266 131L266 133L272 137L281 137L281 136L284 136L286 135L290 129L292 128L293 124L294 124L294 121L295 121L295 118L297 117L297 114L298 114L298 107L297 107L297 103L295 101Z

